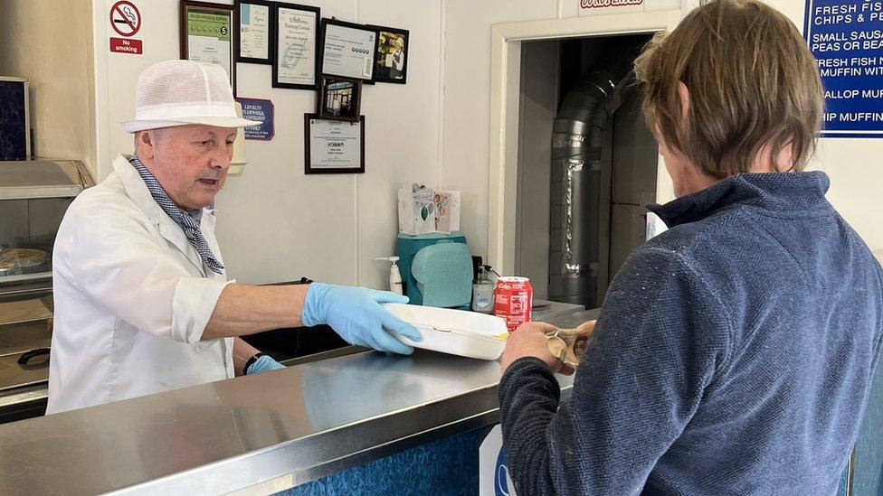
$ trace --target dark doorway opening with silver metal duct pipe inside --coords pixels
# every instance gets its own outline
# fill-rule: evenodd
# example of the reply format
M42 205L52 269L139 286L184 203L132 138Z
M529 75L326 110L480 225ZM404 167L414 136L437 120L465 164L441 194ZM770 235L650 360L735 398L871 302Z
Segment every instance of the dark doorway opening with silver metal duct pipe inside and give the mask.
M600 306L646 239L659 156L631 64L650 37L522 43L515 273L539 299Z

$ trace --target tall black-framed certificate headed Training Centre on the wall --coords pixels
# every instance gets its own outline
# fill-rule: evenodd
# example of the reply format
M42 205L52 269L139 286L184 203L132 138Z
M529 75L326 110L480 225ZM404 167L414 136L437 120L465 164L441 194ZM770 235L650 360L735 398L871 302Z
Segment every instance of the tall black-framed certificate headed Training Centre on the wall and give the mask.
M273 4L273 88L316 89L318 7Z

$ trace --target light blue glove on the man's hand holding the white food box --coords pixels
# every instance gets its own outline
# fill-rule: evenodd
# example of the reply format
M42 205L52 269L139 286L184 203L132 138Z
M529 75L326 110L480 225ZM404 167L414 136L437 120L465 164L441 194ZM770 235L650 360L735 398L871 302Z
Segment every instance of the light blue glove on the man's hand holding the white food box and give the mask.
M420 332L380 306L408 301L407 296L366 287L313 283L307 290L300 320L309 326L327 323L350 344L410 355L413 348L395 339L387 330L413 342L423 339Z

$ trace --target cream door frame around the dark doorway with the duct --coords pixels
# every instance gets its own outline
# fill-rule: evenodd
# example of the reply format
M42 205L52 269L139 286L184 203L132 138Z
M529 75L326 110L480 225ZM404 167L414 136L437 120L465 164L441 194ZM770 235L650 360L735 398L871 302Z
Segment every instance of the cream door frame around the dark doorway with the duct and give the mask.
M512 274L515 269L521 42L671 31L682 12L660 10L491 26L488 260L500 274ZM674 199L661 157L656 198L660 202Z

